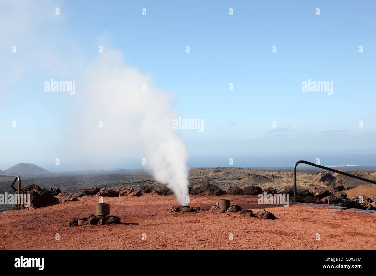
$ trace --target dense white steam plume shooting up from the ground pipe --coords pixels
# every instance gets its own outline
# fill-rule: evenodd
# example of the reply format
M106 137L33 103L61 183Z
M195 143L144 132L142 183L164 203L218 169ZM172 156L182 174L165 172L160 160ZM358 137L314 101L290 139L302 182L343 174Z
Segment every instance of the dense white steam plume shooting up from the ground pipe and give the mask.
M149 75L124 66L116 51L101 54L88 69L86 81L86 109L78 131L84 139L81 150L121 159L125 149L138 146L155 180L167 184L185 204L188 153L172 128L178 115L171 106L171 95L154 87ZM78 88L76 91L79 94ZM98 121L103 121L102 129Z

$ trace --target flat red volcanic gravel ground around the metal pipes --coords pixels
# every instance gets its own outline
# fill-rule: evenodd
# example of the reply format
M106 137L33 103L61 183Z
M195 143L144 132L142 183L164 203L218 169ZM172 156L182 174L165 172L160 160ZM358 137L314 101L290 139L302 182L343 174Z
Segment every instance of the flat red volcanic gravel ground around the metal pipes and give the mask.
M278 219L212 213L213 202L231 199L253 213ZM98 197L0 214L0 249L376 249L375 216L311 207L259 205L256 196L191 196L199 213L172 213L175 196L104 197L124 224L68 227L72 217L96 213ZM55 240L55 234L60 240ZM142 235L146 234L146 240ZM229 240L229 234L233 240ZM316 234L320 240L315 240Z

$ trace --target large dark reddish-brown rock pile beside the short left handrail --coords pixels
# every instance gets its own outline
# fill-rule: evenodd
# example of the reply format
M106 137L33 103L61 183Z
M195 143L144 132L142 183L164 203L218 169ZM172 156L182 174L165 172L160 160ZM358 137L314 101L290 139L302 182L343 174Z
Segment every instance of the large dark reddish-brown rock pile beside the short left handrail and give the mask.
M18 194L18 191L15 194ZM55 198L49 190L42 189L35 184L22 186L21 195L30 195L29 208L40 208L59 203L59 199ZM21 209L27 208L23 204L20 207ZM11 210L17 210L17 204L13 205Z

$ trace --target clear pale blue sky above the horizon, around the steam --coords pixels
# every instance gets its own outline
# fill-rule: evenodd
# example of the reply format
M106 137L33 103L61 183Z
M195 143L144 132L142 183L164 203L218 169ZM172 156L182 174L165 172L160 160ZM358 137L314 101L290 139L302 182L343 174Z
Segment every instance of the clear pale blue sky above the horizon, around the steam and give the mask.
M72 122L85 106L84 71L99 45L174 93L180 116L203 119L202 133L179 130L190 167L228 166L229 158L242 167L315 158L376 165L374 1L0 5L0 169L20 162L52 171L140 167L142 155L127 149L93 163L67 154ZM44 92L50 78L76 81L76 95ZM333 94L302 92L308 79L333 81ZM64 156L59 167L56 156Z

